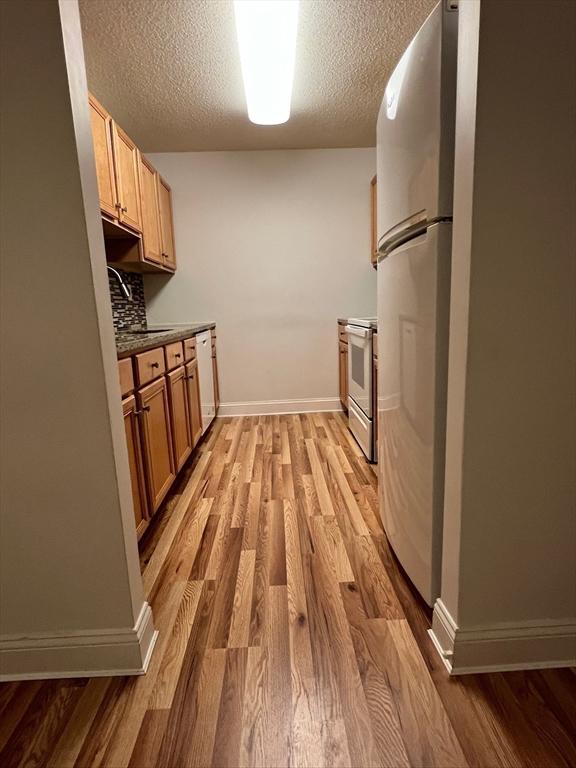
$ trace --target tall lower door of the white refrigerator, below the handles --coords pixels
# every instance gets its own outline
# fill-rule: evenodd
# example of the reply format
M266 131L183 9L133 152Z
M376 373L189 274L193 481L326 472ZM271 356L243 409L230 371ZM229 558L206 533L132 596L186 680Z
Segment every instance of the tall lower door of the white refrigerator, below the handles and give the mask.
M439 595L451 224L378 266L378 472L388 540L429 605Z

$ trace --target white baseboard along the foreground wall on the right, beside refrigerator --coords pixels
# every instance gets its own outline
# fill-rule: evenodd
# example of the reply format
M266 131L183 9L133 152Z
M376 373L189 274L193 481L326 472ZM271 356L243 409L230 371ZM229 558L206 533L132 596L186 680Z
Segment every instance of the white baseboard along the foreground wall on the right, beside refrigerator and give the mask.
M570 620L461 629L437 600L429 634L451 675L576 666L576 622Z

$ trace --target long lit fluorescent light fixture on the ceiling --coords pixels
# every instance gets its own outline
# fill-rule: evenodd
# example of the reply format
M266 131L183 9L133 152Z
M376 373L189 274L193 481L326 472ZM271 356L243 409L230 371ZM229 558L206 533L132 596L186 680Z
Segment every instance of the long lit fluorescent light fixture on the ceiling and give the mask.
M290 117L299 0L234 0L248 117L279 125Z

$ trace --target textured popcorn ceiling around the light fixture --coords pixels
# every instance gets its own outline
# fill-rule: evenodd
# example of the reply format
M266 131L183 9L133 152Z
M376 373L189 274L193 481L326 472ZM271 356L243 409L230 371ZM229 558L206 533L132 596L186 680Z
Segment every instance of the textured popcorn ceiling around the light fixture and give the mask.
M437 0L301 0L290 120L246 115L230 0L80 0L88 84L146 152L375 144L386 81Z

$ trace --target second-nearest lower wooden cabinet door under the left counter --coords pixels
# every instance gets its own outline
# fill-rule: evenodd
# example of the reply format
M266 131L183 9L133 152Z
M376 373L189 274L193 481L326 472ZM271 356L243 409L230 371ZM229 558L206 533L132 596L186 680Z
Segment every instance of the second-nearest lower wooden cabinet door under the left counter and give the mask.
M144 465L150 510L154 513L176 476L168 389L164 376L138 391L138 406L143 411Z

